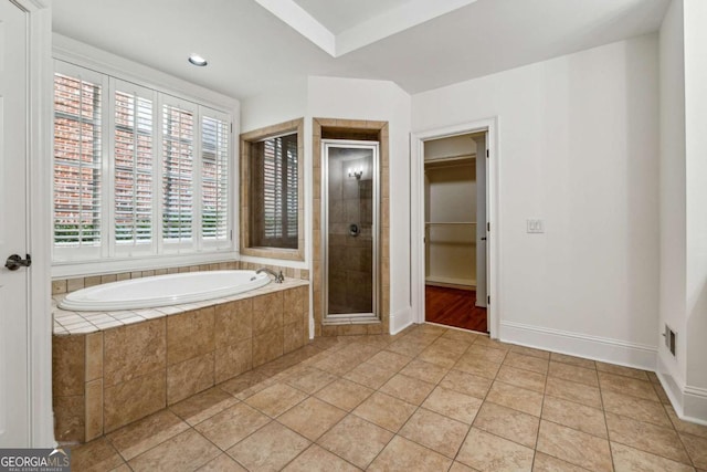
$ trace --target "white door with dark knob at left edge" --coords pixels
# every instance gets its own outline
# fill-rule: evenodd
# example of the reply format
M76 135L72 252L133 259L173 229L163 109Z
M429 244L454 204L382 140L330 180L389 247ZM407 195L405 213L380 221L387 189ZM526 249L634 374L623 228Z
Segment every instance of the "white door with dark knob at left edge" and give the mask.
M29 438L27 268L28 13L0 0L0 448Z

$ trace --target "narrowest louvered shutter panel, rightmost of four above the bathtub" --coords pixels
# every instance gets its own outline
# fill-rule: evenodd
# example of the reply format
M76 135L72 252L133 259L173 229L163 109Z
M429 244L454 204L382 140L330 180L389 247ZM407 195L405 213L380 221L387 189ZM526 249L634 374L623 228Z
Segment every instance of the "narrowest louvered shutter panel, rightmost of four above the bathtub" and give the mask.
M202 115L201 235L204 241L229 239L230 128L225 117Z

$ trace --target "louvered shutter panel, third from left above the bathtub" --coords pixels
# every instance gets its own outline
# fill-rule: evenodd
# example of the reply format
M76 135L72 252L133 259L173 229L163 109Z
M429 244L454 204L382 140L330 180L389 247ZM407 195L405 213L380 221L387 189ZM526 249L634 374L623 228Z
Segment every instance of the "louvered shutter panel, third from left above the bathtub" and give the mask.
M162 105L162 239L192 238L194 111Z

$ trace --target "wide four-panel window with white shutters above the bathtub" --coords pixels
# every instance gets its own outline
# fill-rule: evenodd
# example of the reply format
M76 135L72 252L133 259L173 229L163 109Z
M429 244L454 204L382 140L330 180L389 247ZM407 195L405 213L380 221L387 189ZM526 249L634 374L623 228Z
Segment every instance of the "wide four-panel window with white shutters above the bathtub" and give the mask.
M232 250L231 118L56 62L56 263Z

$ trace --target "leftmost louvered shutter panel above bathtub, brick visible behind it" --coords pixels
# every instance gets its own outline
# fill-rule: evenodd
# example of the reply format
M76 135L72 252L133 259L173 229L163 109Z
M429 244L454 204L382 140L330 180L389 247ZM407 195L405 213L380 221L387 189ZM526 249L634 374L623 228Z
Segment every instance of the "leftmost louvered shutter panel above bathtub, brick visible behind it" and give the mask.
M54 247L99 247L102 84L54 75Z

